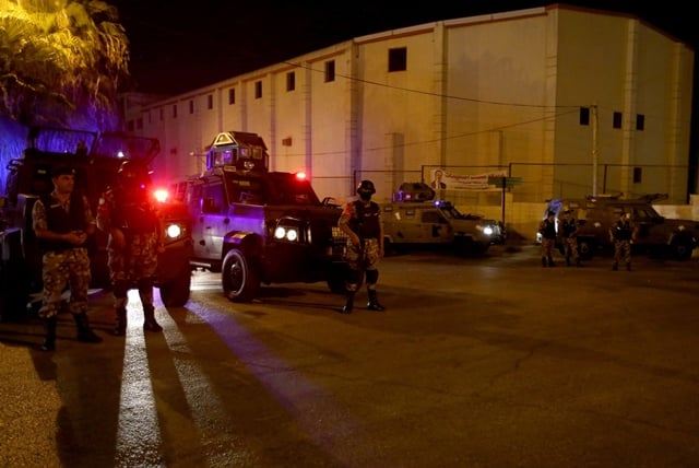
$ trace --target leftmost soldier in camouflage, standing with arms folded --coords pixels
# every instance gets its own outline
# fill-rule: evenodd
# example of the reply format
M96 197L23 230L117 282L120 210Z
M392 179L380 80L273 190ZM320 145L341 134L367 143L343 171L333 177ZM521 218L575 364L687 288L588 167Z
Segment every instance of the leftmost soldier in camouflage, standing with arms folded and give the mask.
M43 253L44 293L39 317L46 324L42 351L56 349L57 315L66 283L70 285L69 308L78 326L78 341L102 341L90 328L87 291L92 280L87 236L95 232L95 219L87 199L74 191L75 172L58 166L51 173L54 191L42 196L32 209L34 232Z

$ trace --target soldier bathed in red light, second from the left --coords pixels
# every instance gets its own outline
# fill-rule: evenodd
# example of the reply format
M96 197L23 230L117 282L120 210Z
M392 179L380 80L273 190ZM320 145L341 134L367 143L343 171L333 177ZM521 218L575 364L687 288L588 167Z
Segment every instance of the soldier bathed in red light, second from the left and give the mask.
M126 161L117 174L116 186L99 199L97 226L109 234L107 261L114 288L114 335L117 336L126 334L128 291L133 286L138 288L143 305L143 329L163 330L155 320L153 305L157 254L163 251L163 246L150 189L147 168Z

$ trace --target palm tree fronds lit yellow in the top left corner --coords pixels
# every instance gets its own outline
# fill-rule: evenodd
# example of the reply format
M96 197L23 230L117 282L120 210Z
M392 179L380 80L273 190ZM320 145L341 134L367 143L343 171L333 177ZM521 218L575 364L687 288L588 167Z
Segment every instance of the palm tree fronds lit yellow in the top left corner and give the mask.
M115 129L129 78L118 19L98 0L0 0L0 114L25 126Z

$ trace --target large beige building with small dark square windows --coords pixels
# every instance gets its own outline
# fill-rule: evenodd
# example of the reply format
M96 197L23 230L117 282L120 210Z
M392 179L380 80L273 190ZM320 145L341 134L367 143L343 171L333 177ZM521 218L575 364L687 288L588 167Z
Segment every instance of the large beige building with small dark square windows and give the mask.
M499 191L470 190L497 174L520 182L509 202L686 203L692 69L690 47L636 16L554 4L356 37L134 106L129 128L161 140L168 179L201 172L213 138L241 130L321 197L371 178L389 198L440 168L442 195L469 204L499 204Z

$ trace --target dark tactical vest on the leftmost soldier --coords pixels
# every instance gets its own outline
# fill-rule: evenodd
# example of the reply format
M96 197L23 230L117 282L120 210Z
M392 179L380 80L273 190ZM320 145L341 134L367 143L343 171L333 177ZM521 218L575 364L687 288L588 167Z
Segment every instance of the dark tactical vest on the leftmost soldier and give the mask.
M59 234L68 234L71 231L85 231L87 223L85 222L85 204L82 195L72 192L70 195L69 212L63 210L61 202L51 197L44 195L40 198L46 211L46 224L49 231ZM49 241L38 239L39 247L45 251L61 251L68 248L84 247L84 245L71 244L67 241Z

